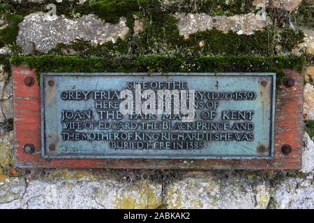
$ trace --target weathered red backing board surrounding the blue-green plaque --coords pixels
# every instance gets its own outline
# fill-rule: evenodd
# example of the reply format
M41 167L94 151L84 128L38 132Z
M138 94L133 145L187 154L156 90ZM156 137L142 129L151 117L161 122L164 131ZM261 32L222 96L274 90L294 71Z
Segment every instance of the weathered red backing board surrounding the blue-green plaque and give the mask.
M294 86L282 85L276 94L275 149L272 160L145 160L145 159L62 159L47 160L40 153L40 89L35 70L13 68L15 165L17 167L75 167L75 168L133 168L133 169L299 169L304 133L303 88L304 77L286 70L295 79ZM32 86L25 77L35 79ZM24 153L23 146L33 144L32 154ZM283 144L292 146L284 155Z

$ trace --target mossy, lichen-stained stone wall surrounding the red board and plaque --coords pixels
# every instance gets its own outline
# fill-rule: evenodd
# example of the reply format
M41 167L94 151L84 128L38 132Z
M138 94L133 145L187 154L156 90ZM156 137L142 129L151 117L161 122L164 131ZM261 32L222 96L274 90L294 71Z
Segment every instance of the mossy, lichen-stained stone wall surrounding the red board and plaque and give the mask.
M112 2L0 4L0 208L314 208L313 0ZM302 169L17 169L9 59L44 54L305 56Z

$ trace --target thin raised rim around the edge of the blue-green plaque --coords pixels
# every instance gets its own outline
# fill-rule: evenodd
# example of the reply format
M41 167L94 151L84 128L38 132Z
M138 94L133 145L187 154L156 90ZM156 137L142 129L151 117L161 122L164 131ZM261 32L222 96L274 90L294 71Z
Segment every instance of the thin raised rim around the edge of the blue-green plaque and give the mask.
M124 154L124 155L110 155L106 157L105 155L76 155L71 157L71 155L49 155L46 153L45 148L45 77L72 77L72 76L98 76L98 77L165 77L160 72L154 72L147 75L147 72L42 72L40 73L40 116L41 116L41 155L44 158L48 159L154 159L154 160L178 160L178 159L191 159L191 160L270 160L274 157L274 126L275 126L275 107L276 107L276 73L275 72L168 72L167 77L271 77L271 106L270 106L270 129L269 129L269 154L267 156L257 157L257 156L243 156L243 155L230 155L230 156L215 156L211 155L208 157L197 156L197 157L180 157L178 155L170 155L169 157L164 157L165 155L152 155L151 157L142 156L137 157L136 155Z

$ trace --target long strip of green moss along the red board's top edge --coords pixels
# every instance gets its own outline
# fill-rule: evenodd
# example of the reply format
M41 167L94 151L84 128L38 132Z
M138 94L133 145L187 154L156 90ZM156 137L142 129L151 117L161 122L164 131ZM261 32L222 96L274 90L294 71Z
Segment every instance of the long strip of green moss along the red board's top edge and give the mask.
M36 68L40 72L277 72L277 82L283 78L282 69L301 72L306 60L298 56L199 56L172 57L145 55L130 57L78 56L13 56L13 66Z

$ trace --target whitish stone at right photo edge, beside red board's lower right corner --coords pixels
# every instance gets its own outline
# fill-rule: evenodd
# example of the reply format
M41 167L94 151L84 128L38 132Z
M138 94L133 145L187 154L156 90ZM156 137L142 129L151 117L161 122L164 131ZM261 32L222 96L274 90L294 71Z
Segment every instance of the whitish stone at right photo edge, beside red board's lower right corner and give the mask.
M307 133L304 134L304 149L302 155L301 171L310 173L314 170L314 143Z

